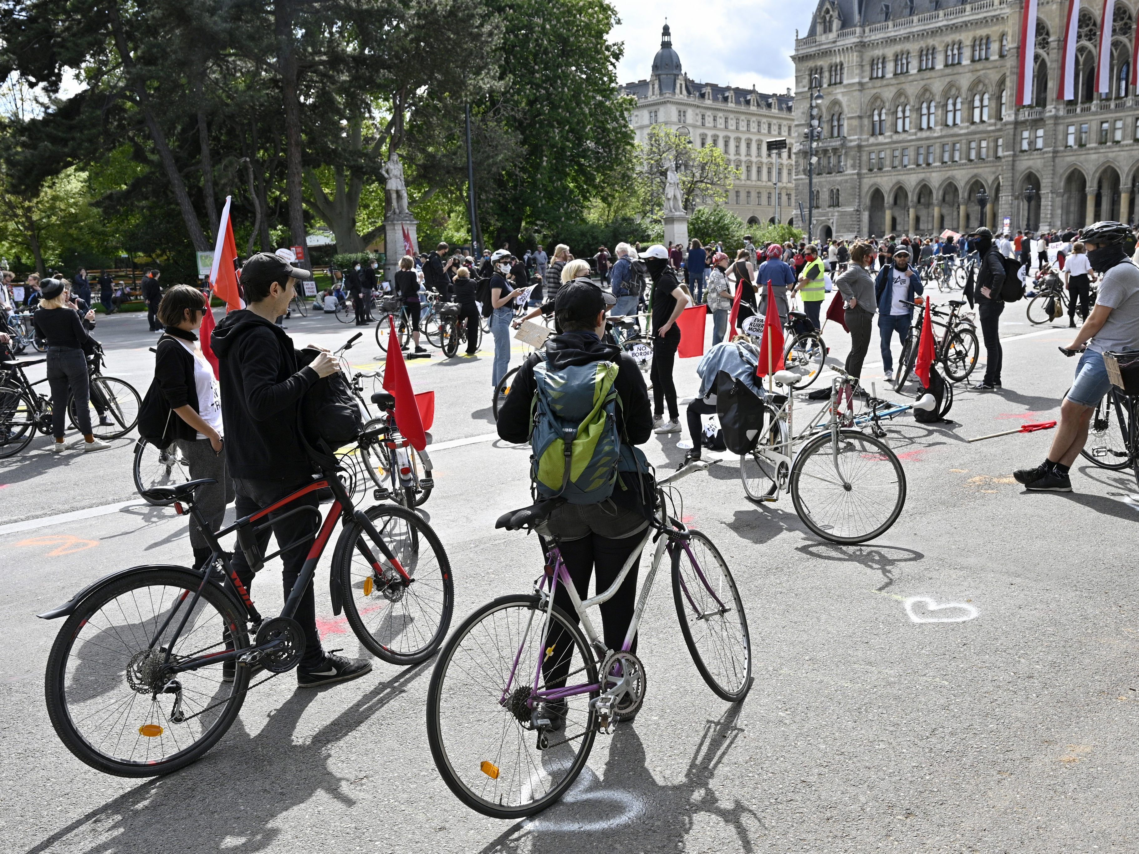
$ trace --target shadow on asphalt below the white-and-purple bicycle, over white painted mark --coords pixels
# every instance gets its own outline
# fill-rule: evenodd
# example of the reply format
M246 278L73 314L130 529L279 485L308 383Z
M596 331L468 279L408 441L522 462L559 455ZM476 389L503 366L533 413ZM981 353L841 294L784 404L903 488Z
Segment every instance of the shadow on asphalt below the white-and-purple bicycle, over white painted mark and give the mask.
M716 771L744 732L736 725L739 713L740 706L732 705L715 721L705 722L678 783L657 782L636 724L618 725L601 777L587 765L562 800L515 823L478 854L593 854L601 846L683 852L686 837L702 815L719 819L734 832L735 844L729 840L723 851L755 851L752 837L767 829L763 819L738 798L721 797L714 787Z

